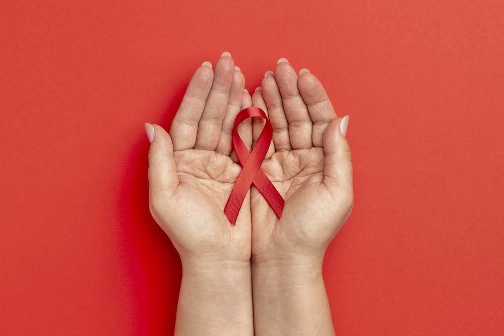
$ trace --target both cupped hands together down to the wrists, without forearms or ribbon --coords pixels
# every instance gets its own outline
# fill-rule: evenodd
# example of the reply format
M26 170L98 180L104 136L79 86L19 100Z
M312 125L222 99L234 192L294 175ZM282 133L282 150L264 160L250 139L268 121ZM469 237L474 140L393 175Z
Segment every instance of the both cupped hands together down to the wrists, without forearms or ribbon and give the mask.
M280 220L254 187L236 225L223 213L241 171L232 151L238 112L257 106L268 115L273 139L262 169L285 199ZM264 120L238 127L250 150ZM250 96L244 76L224 52L204 62L188 85L169 133L146 124L151 214L168 234L185 268L297 262L322 263L325 250L348 218L352 165L345 139L348 116L338 118L319 80L296 74L279 59Z

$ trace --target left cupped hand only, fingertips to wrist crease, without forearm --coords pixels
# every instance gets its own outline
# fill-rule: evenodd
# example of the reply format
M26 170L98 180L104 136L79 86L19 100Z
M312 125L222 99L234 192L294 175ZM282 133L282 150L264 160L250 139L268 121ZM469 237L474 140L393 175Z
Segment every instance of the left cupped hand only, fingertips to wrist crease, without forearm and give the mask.
M188 85L169 133L146 124L151 214L168 234L182 263L250 260L250 193L236 225L223 213L241 167L232 153L231 133L238 112L251 104L244 77L229 53L212 70L198 68ZM252 141L250 120L238 129ZM249 263L248 263L249 264Z

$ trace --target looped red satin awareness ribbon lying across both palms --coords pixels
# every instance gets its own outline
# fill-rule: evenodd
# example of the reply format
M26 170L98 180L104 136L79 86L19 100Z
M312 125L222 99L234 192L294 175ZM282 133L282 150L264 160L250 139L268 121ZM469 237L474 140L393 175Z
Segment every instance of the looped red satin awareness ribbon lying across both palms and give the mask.
M264 118L266 119L266 124L257 140L256 146L254 146L251 152L248 152L248 149L238 135L237 127L243 120L251 117ZM272 135L273 129L271 128L270 120L268 120L266 113L258 107L249 107L241 110L234 120L233 149L242 169L227 199L226 207L224 208L224 214L233 224L236 223L241 204L252 183L254 183L256 188L263 194L264 198L266 198L277 217L280 219L282 216L285 201L261 169L261 164L270 147Z

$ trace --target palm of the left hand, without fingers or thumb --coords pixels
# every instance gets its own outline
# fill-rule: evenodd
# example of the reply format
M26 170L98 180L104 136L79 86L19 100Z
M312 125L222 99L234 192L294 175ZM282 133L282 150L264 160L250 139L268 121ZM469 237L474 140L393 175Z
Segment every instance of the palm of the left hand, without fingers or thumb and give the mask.
M166 199L166 211L174 222L180 223L176 234L192 237L191 244L205 253L221 251L223 255L248 258L250 233L233 230L222 212L240 167L229 156L207 150L176 151L174 158L179 184L171 198ZM240 213L236 225L250 227L248 197Z

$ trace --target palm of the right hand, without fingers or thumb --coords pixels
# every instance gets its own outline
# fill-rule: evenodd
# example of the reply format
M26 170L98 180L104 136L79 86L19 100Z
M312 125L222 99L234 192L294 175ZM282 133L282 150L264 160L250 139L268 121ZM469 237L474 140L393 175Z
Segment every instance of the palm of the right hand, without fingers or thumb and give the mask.
M324 156L322 148L313 147L275 153L263 163L266 175L285 199L285 207L278 220L265 198L253 189L254 255L324 245L337 231L333 225L334 218L340 217L335 214L339 208L333 197L337 190L329 190L323 183Z

